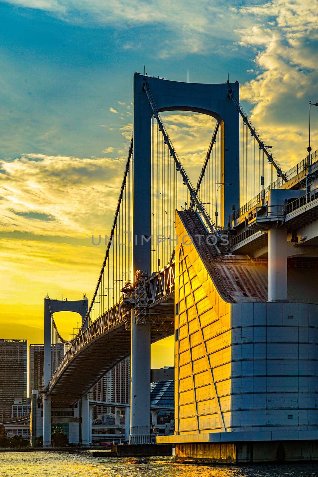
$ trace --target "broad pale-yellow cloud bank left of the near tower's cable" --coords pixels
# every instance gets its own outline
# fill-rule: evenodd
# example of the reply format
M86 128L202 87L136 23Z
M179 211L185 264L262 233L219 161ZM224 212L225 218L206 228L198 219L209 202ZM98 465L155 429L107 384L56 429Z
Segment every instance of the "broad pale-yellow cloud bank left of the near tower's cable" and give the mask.
M3 231L90 236L108 233L123 176L125 155L77 158L27 154L0 161Z

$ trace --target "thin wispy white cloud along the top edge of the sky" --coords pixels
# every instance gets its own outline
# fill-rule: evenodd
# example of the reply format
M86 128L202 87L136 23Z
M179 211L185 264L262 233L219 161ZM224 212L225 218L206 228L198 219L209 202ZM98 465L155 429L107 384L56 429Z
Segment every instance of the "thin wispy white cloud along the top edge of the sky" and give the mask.
M5 1L5 0L2 0ZM203 0L6 0L7 3L31 9L41 9L67 21L81 26L92 24L107 25L114 29L153 27L152 35L161 38L160 47L156 42L158 57L167 58L187 53L207 53L218 51L215 39L226 43L235 39L234 30L240 25L235 6ZM220 28L220 21L226 27ZM243 22L241 22L243 27ZM149 43L148 43L149 44ZM133 41L123 41L126 50L143 45Z

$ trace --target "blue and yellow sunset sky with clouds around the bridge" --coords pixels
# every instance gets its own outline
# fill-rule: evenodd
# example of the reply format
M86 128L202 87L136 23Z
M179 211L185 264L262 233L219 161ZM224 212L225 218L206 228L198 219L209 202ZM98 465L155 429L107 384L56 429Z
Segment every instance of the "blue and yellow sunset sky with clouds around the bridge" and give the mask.
M278 161L306 156L317 15L312 0L0 0L0 338L43 342L47 294L91 299L104 255L91 235L113 220L135 71L187 81L189 70L194 83L229 74ZM196 173L211 118L164 121ZM74 319L59 320L67 335ZM173 361L172 339L153 345L154 367Z

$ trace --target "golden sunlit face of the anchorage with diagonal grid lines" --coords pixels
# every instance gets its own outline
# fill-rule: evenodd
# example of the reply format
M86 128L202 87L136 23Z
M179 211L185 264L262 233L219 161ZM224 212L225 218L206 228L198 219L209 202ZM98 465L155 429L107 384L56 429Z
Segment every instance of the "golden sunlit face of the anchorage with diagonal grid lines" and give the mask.
M177 213L175 224L185 236ZM175 290L174 430L224 432L231 425L230 304L215 289L194 244L176 247Z

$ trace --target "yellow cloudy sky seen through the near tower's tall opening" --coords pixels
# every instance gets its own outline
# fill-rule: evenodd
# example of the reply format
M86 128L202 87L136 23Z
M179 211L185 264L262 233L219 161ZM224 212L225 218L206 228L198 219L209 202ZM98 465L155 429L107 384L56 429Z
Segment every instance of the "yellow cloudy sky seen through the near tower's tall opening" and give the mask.
M207 110L164 108L161 118L192 188L212 221L220 225L222 128ZM220 119L220 116L216 114ZM167 265L176 245L174 210L194 207L154 116L151 118L151 270ZM182 238L181 238L182 239Z

